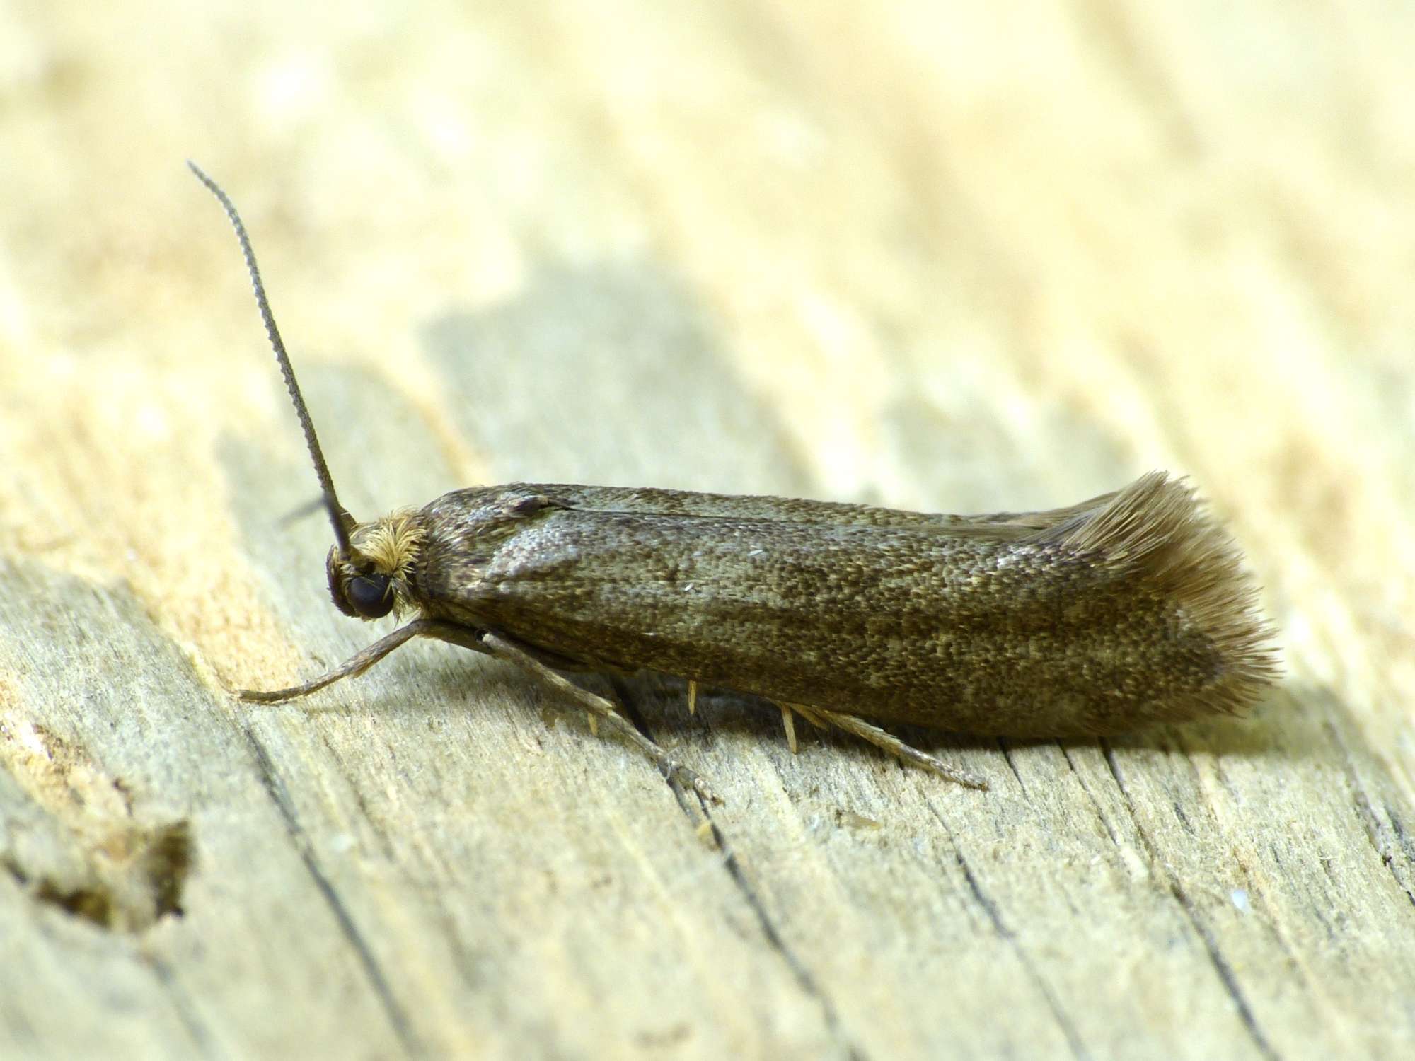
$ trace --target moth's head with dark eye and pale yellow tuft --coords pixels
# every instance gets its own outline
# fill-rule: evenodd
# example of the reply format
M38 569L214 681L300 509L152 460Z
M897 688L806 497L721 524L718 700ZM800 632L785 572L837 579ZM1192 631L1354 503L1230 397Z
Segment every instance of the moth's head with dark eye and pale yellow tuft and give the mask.
M345 553L330 549L325 569L334 607L354 618L383 618L412 605L409 577L417 566L424 532L410 509L358 523Z

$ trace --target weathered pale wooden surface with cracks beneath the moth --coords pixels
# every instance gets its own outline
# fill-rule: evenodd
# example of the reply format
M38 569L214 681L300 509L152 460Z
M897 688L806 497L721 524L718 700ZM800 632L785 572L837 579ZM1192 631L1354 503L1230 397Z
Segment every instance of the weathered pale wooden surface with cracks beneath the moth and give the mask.
M471 11L466 8L477 7ZM0 7L0 1054L1415 1050L1415 24L1374 3ZM1247 723L910 734L344 620L344 501L1044 508L1190 474Z

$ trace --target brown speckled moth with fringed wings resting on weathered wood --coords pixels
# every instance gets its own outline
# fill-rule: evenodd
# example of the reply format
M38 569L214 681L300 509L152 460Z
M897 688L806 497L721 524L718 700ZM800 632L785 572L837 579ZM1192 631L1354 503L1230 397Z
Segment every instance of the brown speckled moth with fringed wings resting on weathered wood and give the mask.
M1150 472L1044 512L935 515L672 489L511 484L361 522L340 504L250 239L260 317L334 528L345 615L413 618L276 702L366 671L415 637L509 661L713 798L610 700L565 673L662 672L774 702L983 788L880 729L1081 737L1238 714L1278 678L1238 549L1191 488Z

